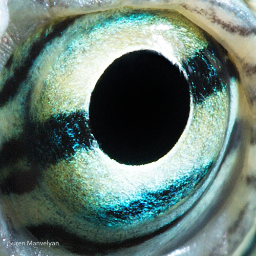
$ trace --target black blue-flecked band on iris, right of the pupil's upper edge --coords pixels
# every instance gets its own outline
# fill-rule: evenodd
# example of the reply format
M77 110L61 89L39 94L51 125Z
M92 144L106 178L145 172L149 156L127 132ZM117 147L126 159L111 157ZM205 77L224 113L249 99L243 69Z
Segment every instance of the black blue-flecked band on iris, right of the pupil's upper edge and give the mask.
M231 72L236 68L226 57L226 51L217 45L196 53L184 61L183 66L196 102L203 102L205 97L228 88L230 76L236 75Z

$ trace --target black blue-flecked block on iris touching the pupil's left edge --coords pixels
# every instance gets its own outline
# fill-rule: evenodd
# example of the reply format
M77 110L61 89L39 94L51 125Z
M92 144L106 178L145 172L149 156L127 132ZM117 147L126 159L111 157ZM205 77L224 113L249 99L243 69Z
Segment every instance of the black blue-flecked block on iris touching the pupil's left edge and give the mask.
M92 148L94 137L86 115L82 111L58 114L45 123L32 125L36 161L42 166L56 164L70 158L80 148Z

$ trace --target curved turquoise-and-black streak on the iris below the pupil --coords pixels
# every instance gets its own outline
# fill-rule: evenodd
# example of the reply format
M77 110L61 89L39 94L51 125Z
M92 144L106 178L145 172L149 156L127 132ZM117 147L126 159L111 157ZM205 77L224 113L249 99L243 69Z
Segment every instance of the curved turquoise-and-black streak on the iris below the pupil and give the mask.
M184 176L175 181L169 188L157 191L156 193L146 193L142 199L131 202L127 206L117 206L112 209L101 211L97 219L101 222L112 223L120 220L134 219L151 212L154 216L165 211L172 205L187 197L207 175L212 166L210 162L207 166L194 170L194 175Z

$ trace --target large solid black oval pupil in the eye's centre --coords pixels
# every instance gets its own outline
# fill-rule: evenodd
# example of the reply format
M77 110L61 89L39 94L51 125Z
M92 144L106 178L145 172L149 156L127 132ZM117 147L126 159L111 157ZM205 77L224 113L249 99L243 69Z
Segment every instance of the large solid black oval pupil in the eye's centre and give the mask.
M178 66L155 51L124 54L91 95L90 126L101 150L119 163L151 163L167 154L189 115L189 87Z

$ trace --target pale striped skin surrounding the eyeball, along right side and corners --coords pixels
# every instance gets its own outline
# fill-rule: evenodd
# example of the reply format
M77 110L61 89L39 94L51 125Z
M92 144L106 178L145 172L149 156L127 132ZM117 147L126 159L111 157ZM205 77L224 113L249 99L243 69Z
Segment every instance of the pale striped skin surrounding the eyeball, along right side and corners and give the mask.
M23 1L16 1L15 5L25 6ZM142 3L129 3L130 5L142 5ZM225 1L192 1L180 3L179 1L173 1L169 5L175 7L179 12L189 17L193 22L201 26L214 36L221 44L228 50L233 62L236 64L243 88L245 90L245 96L241 90L240 110L237 115L237 125L234 127L230 147L233 150L228 151L226 160L223 162L220 168L219 175L216 177L216 181L212 184L211 189L207 191L207 194L200 199L198 206L196 206L190 215L187 215L181 220L182 229L178 236L176 227L172 230L167 230L161 235L152 238L142 244L134 247L126 248L123 252L113 252L113 255L134 255L136 251L139 251L141 255L164 255L167 252L173 251L174 255L231 255L237 253L242 255L248 247L254 237L254 216L255 216L255 131L254 131L254 119L255 112L254 95L255 95L255 21L253 14L250 13L246 7L241 3L234 3ZM10 10L12 12L12 3L10 2ZM38 11L38 15L46 15L44 11L50 15L57 15L61 13L68 15L74 13L87 13L98 10L95 4L86 3L78 7L76 4L69 7L66 1L56 1L56 5L53 2L49 2L49 8L44 5L44 1L35 1L35 6L28 5L28 8ZM100 9L110 9L113 6L120 6L118 3L103 2L99 5ZM143 4L144 6L145 4ZM166 3L148 3L148 6L158 6L159 8L164 6L168 8ZM74 8L73 8L74 6ZM231 6L231 7L230 7ZM145 7L145 6L144 6ZM239 8L241 7L241 8ZM77 9L78 10L77 10ZM239 8L239 9L238 9ZM33 13L33 12L32 12ZM225 19L223 18L225 17ZM30 19L30 22L37 20L38 18ZM19 24L17 17L15 23L15 17L13 18L14 27L20 34L20 30L24 29L25 24ZM13 29L13 28L11 28ZM9 31L11 31L11 29ZM31 32L31 31L30 31ZM26 33L30 33L26 32ZM10 34L10 38L13 39L13 46L18 42L17 38L22 38ZM26 33L23 36L26 36ZM6 36L8 38L8 36ZM2 43L5 40L2 40ZM243 46L243 48L241 47ZM11 45L12 47L12 45ZM3 48L6 50L7 46ZM250 141L250 143L248 143ZM231 152L231 153L230 153ZM246 153L243 153L246 152ZM237 160L236 160L237 159ZM230 173L230 176L236 176L236 178L225 177L226 173ZM224 180L230 185L217 191L214 186L218 183L221 184ZM223 182L225 183L225 182ZM224 185L223 185L224 186ZM218 195L215 199L212 199L212 195ZM212 199L209 200L209 199ZM200 212L200 205L208 205L209 209L204 212ZM214 214L212 214L214 212ZM199 220L205 218L205 220L199 222ZM2 218L2 237L3 241L3 253L9 255L11 253L19 255L26 253L32 254L35 250L38 254L39 251L44 254L52 255L65 255L58 252L53 248L48 249L46 247L33 248L28 246L15 247L11 246L6 248L6 241L9 241L10 234L12 237L10 240L19 241L19 232L22 236L29 236L23 230L17 230L14 232L12 228L16 228L15 224L9 224L6 226L4 223L8 223L6 217ZM199 223L199 224L198 224ZM201 223L201 224L200 224ZM12 226L13 225L13 226ZM190 231L189 231L190 230ZM196 230L196 233L195 233ZM189 240L191 239L191 240ZM209 243L210 241L210 243ZM161 243L161 246L159 244ZM238 246L239 245L239 246ZM48 252L50 251L50 252ZM67 254L68 255L68 254ZM172 254L171 254L172 255Z

